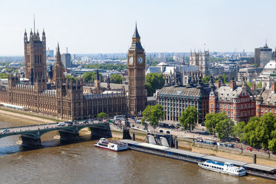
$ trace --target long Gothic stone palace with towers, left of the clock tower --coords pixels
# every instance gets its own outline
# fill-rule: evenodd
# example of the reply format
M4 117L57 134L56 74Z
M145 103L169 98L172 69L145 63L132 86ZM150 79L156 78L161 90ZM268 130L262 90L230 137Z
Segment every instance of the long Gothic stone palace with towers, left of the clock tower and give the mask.
M59 46L56 63L47 76L45 32L42 41L39 41L38 32L31 32L28 41L25 32L24 43L25 76L30 79L29 83L20 83L18 75L9 75L8 85L0 86L1 103L23 106L33 112L50 114L63 120L87 119L97 116L99 112L106 112L110 116L128 113L124 89L103 92L101 80L97 76L95 92L83 92L83 79L78 78L77 82L65 79Z

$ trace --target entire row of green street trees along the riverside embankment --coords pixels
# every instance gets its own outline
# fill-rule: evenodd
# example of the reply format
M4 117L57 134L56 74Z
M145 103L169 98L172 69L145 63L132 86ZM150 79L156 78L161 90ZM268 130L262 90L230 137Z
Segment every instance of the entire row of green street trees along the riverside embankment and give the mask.
M147 120L150 125L157 126L159 121L164 119L164 115L162 105L148 105L143 112L142 123ZM197 126L197 109L186 108L179 122L184 130L193 130ZM262 147L276 152L276 116L271 112L262 117L253 116L247 124L242 121L236 125L225 112L210 113L206 114L204 123L210 134L215 136L217 134L221 140L228 140L232 136L253 147Z

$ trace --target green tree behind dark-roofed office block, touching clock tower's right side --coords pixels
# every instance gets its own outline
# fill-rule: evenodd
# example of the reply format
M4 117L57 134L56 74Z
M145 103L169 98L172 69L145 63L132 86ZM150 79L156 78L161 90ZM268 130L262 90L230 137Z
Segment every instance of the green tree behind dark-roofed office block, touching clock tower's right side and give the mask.
M148 91L148 96L152 96L156 90L163 88L165 84L165 77L162 74L150 73L146 74L145 79L146 90Z

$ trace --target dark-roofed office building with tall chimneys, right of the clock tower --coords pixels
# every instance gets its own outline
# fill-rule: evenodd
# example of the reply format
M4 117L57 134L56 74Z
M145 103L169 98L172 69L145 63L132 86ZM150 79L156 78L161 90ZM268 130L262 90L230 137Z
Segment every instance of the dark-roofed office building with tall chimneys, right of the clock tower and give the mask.
M198 111L197 123L203 123L209 112L209 94L212 86L215 88L215 85L210 85L208 88L204 87L201 83L201 77L199 81L194 82L189 79L186 86L182 86L181 83L169 86L166 83L166 86L157 90L155 94L157 103L164 106L164 120L179 121L181 112L193 106Z

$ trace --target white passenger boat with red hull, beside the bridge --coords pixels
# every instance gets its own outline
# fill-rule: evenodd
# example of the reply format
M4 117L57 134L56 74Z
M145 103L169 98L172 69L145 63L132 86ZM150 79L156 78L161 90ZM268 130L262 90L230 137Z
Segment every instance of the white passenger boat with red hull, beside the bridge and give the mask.
M95 143L94 145L95 145L95 147L101 147L106 150L112 150L115 152L128 150L128 143L122 143L120 141L108 140L106 138L99 139L99 141L97 141L97 143Z

